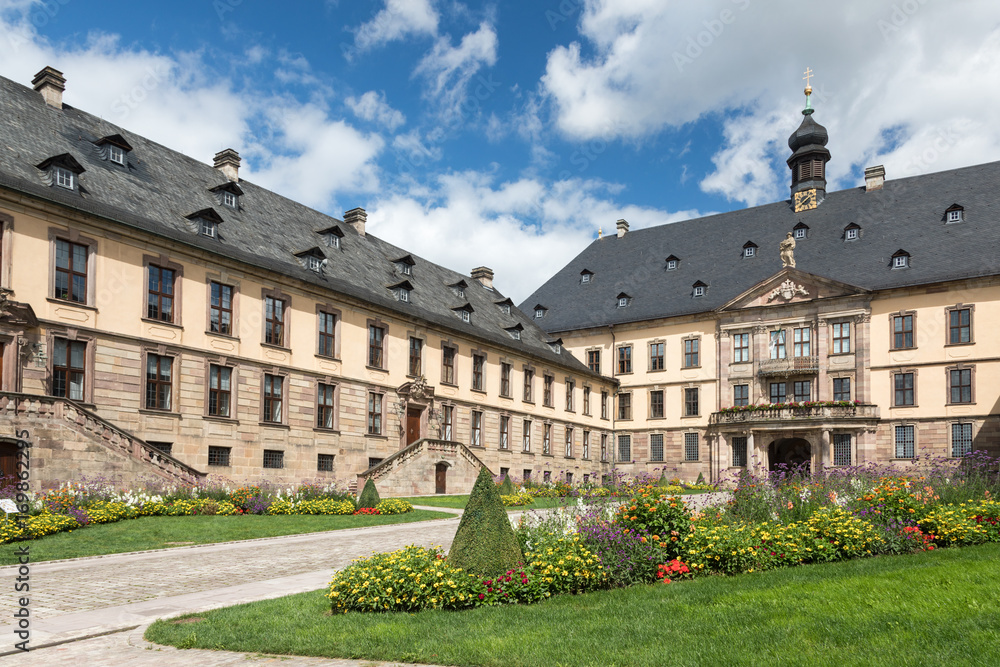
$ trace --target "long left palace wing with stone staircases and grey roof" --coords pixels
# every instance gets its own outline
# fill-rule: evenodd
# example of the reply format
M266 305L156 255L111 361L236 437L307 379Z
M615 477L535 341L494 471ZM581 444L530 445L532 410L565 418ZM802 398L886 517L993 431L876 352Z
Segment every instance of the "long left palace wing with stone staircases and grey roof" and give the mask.
M0 462L389 493L607 474L615 380L463 276L0 78ZM336 159L336 156L331 156ZM978 315L978 314L977 314ZM547 324L547 322L541 322Z

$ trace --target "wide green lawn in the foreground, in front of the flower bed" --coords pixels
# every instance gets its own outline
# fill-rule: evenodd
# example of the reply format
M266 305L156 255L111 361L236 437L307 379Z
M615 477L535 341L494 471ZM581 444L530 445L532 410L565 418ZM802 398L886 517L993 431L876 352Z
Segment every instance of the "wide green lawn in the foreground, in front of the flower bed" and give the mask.
M157 621L185 648L439 665L997 665L1000 545L466 612L328 616L323 591Z

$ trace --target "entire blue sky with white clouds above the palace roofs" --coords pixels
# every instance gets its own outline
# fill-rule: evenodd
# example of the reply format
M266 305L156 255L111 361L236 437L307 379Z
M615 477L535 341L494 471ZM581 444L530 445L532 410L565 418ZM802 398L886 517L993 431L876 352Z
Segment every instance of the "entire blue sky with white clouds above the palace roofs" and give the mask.
M960 9L956 9L960 8ZM0 75L515 300L618 218L788 196L816 76L832 189L1000 159L993 0L0 0Z

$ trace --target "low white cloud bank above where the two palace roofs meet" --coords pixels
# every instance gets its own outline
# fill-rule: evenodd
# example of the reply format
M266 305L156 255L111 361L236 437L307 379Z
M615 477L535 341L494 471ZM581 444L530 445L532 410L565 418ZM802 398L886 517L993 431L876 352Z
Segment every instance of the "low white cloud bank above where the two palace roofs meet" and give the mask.
M373 234L468 273L486 265L497 288L515 301L528 296L597 236L626 218L633 229L695 217L614 201L619 186L596 180L495 183L489 174L441 175L430 191L388 195L368 210ZM544 226L532 224L544 220Z

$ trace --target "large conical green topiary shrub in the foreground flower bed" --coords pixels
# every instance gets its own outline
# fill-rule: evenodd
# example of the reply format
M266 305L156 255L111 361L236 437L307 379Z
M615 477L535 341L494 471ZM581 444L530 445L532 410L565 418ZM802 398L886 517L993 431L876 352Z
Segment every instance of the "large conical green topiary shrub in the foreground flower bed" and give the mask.
M514 569L523 560L500 492L484 467L455 531L448 564L479 576L495 577Z

